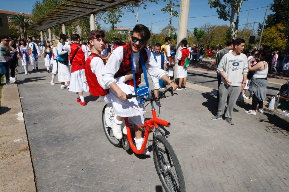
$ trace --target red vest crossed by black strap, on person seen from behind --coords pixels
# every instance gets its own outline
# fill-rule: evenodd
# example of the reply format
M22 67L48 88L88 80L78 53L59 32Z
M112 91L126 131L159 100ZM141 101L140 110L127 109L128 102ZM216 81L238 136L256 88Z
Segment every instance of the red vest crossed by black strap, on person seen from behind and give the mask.
M79 43L73 43L70 45L70 61L79 45L80 45ZM85 65L85 56L84 52L82 51L82 47L80 47L71 63L71 72L84 69L84 65Z

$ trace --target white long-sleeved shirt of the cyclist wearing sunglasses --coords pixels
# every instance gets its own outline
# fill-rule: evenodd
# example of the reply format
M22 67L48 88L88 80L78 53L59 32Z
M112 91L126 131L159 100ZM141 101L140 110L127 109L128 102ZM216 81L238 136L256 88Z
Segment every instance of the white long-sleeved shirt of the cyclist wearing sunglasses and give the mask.
M167 75L166 71L159 68L159 64L153 57L152 52L148 49L145 49L145 51L147 52L147 61L145 62L145 68L149 72L149 74L159 79L161 79L163 75ZM133 52L132 55L133 55L133 67L134 69L139 69L139 52L138 53ZM123 47L120 46L113 50L113 53L110 55L110 58L108 59L102 71L102 78L105 86L109 86L110 83L116 82L114 75L119 70L119 67L122 63L122 58L123 58Z

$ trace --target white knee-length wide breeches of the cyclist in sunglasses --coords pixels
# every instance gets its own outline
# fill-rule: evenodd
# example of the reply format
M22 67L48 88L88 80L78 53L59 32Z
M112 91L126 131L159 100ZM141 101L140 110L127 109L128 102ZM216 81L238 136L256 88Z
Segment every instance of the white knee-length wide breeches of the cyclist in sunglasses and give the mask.
M134 95L133 86L125 83L117 84L119 88L126 94L132 93ZM140 105L136 98L129 100L120 100L117 93L112 89L109 90L113 109L119 117L129 117L129 119L136 125L144 123L144 105Z

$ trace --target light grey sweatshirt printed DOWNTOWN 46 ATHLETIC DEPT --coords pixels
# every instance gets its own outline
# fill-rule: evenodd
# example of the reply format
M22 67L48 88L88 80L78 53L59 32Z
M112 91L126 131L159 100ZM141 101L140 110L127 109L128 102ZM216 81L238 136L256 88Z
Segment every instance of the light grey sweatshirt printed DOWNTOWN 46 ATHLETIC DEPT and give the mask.
M225 76L232 83L231 86L241 86L243 75L248 73L247 56L243 53L234 55L232 52L225 54L217 68L217 73L224 72ZM221 83L227 85L222 77Z

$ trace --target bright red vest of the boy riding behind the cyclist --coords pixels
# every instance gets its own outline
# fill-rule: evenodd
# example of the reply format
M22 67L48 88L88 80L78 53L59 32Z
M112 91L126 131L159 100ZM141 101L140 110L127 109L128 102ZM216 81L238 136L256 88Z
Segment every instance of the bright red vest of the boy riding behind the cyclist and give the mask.
M85 77L86 77L86 80L87 80L89 92L94 97L96 97L96 96L104 96L104 95L107 95L109 93L109 89L102 89L102 86L100 86L98 81L97 81L96 75L91 71L91 68L90 68L90 61L94 57L101 58L99 55L97 55L95 53L91 53L88 56L88 58L86 60L86 64L85 64L85 69L84 69Z

